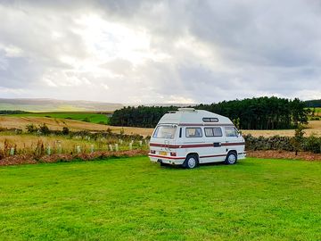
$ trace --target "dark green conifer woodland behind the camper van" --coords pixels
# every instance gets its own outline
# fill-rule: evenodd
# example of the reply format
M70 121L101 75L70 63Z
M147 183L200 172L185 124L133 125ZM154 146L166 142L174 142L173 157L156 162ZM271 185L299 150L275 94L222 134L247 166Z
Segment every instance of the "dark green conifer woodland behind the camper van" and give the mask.
M110 123L113 126L153 128L165 113L177 108L128 106L115 111ZM309 112L298 98L289 100L275 96L199 104L193 108L227 116L238 129L292 129L307 123Z

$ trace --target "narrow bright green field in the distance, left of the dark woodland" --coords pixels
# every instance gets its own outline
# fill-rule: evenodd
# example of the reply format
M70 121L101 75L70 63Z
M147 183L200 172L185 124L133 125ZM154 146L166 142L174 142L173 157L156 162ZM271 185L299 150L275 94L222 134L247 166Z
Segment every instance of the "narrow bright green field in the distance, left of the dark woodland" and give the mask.
M22 113L22 114L12 114L12 116L22 116L22 117L51 117L51 118L61 118L61 119L71 119L71 120L81 120L98 124L108 124L109 118L106 114L92 113L92 112L35 112L35 113Z

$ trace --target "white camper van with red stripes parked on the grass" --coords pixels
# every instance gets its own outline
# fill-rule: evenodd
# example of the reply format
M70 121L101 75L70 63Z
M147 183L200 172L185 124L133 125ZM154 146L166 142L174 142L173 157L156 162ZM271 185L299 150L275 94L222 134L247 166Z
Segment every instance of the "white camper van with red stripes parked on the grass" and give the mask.
M152 162L183 165L199 163L235 164L245 158L245 143L233 122L212 112L180 108L165 114L152 133Z

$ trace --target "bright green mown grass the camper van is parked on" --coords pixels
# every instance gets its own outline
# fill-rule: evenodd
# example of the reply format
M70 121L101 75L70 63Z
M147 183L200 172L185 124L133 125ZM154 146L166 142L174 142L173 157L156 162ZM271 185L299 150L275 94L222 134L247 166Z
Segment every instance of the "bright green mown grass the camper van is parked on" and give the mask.
M0 240L321 240L321 162L0 168Z

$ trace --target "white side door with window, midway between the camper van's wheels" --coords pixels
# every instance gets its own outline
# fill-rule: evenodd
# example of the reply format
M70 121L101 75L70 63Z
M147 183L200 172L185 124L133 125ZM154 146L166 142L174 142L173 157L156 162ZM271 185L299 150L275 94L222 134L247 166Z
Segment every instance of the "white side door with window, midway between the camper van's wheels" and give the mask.
M207 146L203 148L200 162L222 162L226 158L223 130L221 127L204 127Z

